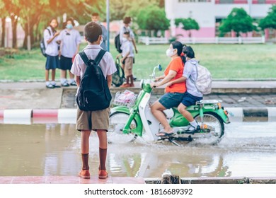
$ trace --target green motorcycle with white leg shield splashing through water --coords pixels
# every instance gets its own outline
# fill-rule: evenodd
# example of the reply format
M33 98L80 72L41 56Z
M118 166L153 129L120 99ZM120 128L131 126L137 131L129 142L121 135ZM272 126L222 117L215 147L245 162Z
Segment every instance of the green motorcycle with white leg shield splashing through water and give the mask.
M151 82L155 79L155 69L161 71L161 65L154 68L151 79L142 80L142 90L138 95L125 91L116 93L113 107L110 110L110 128L108 141L134 141L142 136L147 141L167 140L179 146L177 141L192 141L193 139L207 138L219 141L224 135L224 123L228 124L228 112L224 110L219 100L200 100L196 105L187 107L187 110L200 123L196 132L188 132L189 122L178 112L177 107L165 110L168 122L173 128L170 136L159 137L155 134L163 127L151 114ZM122 136L123 134L123 136Z

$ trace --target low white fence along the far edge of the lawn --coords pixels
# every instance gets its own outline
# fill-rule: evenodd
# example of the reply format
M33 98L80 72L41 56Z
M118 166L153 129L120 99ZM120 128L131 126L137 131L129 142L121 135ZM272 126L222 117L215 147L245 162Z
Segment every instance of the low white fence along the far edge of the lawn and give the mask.
M265 37L180 37L178 41L185 44L250 44L265 43ZM168 44L166 37L139 37L145 45Z

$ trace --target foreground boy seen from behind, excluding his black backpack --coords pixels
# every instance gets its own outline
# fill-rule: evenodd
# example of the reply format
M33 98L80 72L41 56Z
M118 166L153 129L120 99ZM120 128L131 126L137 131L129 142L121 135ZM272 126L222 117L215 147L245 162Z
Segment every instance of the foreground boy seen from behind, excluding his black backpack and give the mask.
M98 53L102 48L100 42L102 38L102 29L100 25L95 22L87 23L84 27L84 37L88 42L84 52L88 59L95 60ZM111 87L112 74L117 70L113 57L109 52L105 52L103 58L99 63L100 69L103 71L106 81L108 81L108 87ZM76 76L76 84L79 87L81 78L84 76L86 70L86 64L81 59L79 54L76 54L73 65L71 67L71 73ZM105 168L105 161L108 151L107 134L109 127L109 111L110 108L97 111L82 111L77 109L76 115L76 129L81 132L81 159L82 168L79 176L84 179L90 178L88 156L89 156L89 136L91 130L96 131L99 139L99 158L100 164L98 166L98 177L100 179L106 179L108 172Z

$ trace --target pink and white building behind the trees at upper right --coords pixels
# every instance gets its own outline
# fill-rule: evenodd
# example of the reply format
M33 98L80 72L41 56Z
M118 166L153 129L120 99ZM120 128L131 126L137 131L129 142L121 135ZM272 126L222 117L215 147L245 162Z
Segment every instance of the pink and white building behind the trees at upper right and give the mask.
M171 36L188 37L188 31L176 28L176 18L193 18L200 25L200 30L192 30L192 37L216 37L219 23L226 18L233 8L244 8L252 18L265 18L269 8L276 0L165 0L166 16L171 20ZM271 35L270 35L271 34ZM235 33L231 33L235 37ZM249 33L248 36L255 36ZM272 37L265 30L265 37Z

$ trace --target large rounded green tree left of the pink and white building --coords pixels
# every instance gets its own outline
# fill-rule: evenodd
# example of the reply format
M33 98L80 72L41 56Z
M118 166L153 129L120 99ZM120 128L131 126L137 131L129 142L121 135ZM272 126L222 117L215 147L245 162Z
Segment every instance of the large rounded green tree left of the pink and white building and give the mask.
M142 30L154 30L155 36L158 30L168 30L170 27L170 21L166 18L165 10L154 5L139 12L137 23Z

